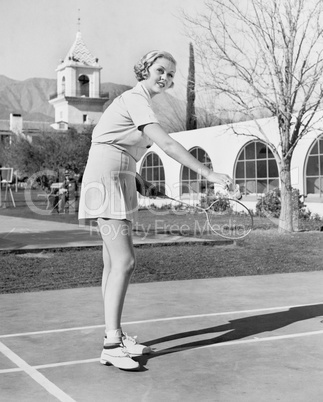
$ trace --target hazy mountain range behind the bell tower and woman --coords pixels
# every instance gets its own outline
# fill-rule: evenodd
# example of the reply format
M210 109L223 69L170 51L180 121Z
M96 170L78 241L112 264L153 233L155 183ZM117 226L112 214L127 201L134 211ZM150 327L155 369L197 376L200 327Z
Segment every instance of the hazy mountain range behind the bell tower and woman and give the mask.
M101 84L102 93L109 93L109 101L126 91L127 85L106 82ZM19 113L24 121L54 122L54 107L48 103L56 92L56 79L29 78L17 81L0 75L0 120L9 120L10 113ZM185 130L186 102L172 95L163 94L153 99L155 113L167 130Z

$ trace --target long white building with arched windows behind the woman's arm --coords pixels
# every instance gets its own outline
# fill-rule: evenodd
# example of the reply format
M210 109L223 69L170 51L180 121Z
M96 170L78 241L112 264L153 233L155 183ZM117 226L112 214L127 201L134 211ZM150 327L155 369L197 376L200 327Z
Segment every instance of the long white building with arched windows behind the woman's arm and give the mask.
M323 121L321 123L323 125ZM259 125L261 130L259 130ZM263 133L262 133L262 132ZM323 135L320 127L303 137L292 157L292 186L306 196L312 213L323 216ZM276 118L234 123L171 134L201 162L227 173L240 185L243 202L255 208L261 194L279 183L277 160L265 137L280 152ZM257 138L256 138L257 137ZM173 198L202 192L206 181L180 166L153 145L137 164L137 171ZM147 202L147 200L142 200ZM156 204L156 200L152 200Z

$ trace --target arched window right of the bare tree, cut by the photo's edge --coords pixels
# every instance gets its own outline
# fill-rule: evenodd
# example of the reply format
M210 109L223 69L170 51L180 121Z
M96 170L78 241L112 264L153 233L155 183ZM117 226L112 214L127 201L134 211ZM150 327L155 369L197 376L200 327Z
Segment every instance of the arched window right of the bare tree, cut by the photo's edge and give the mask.
M313 143L306 160L306 194L323 194L323 136Z

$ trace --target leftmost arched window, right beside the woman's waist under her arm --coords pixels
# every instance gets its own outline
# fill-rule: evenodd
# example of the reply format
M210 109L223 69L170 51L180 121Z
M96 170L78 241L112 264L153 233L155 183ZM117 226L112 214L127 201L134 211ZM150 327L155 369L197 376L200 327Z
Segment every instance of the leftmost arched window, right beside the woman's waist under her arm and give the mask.
M165 191L165 170L160 157L155 152L149 152L141 165L141 176L154 184L159 191Z

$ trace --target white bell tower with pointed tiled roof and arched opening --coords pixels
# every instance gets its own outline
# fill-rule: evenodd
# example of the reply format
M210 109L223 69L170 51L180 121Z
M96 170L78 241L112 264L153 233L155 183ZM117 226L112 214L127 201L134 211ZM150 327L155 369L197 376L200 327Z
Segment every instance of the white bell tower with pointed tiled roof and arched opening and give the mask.
M55 108L55 129L70 125L94 125L99 121L108 96L101 96L101 69L85 46L81 32L64 60L57 67L57 93L49 103Z

